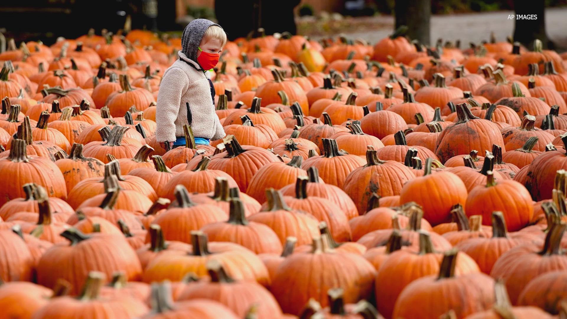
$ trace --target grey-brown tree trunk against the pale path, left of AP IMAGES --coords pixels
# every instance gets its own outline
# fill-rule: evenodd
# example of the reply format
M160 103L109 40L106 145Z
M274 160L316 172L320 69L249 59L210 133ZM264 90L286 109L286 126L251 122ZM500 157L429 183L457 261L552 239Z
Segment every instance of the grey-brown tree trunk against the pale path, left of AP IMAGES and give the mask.
M431 0L396 0L396 29L407 26L411 39L430 44Z

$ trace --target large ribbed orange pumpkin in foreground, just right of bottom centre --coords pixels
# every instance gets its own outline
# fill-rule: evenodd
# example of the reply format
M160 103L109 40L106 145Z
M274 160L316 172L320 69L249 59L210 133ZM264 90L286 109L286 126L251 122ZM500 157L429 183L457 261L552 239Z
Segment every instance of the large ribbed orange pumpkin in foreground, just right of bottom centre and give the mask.
M306 269L315 270L315 273ZM326 307L327 291L333 287L344 289L345 303L366 299L371 294L375 275L374 267L360 255L297 253L287 257L278 267L270 291L284 313L297 315L310 298Z

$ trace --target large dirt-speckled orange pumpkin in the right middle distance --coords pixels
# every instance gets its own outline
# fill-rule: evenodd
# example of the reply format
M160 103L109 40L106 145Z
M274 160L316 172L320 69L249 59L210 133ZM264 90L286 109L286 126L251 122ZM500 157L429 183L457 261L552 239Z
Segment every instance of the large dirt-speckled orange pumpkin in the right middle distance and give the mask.
M458 107L463 105L459 104ZM445 163L447 159L468 154L471 150L491 150L493 144L500 146L504 153L504 141L496 124L485 119L472 119L464 123L456 122L443 129L435 145L435 154L439 161Z

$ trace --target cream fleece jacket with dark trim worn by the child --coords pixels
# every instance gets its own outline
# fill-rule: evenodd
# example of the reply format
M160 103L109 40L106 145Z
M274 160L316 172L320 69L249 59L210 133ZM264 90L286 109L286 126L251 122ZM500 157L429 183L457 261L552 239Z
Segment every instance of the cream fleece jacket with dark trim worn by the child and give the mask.
M188 124L186 102L189 102L191 108L191 128L195 137L210 140L225 137L211 99L209 72L203 73L201 66L187 58L183 52L179 51L178 54L180 60L175 61L163 73L159 85L155 112L156 140L172 142L177 136L184 136L183 125Z

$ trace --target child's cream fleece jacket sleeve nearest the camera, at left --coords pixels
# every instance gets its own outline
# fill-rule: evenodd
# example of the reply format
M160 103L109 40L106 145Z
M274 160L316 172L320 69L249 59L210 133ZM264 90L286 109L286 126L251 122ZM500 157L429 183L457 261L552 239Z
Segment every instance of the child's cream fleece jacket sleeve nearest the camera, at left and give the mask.
M172 68L163 75L155 112L156 141L175 141L175 120L179 115L181 96L187 89L187 85L187 74L179 68Z

